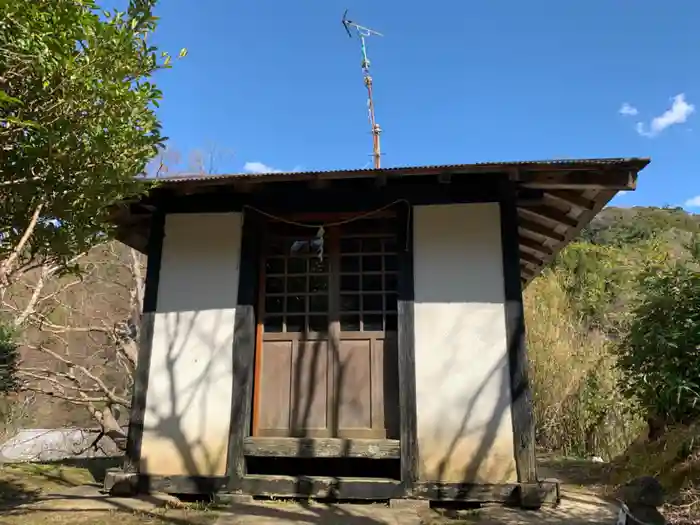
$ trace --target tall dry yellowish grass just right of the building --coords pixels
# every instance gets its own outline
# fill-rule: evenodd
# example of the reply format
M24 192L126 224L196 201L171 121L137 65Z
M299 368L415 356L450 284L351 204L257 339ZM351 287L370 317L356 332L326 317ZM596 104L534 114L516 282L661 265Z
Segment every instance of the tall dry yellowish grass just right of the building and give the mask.
M620 394L612 344L589 331L555 272L525 293L537 442L567 456L612 459L643 429Z

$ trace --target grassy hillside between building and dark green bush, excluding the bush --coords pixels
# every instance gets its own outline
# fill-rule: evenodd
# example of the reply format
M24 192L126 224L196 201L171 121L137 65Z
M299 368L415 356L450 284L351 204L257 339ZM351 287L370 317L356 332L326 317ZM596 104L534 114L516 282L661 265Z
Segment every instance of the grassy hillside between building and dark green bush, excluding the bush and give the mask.
M699 232L700 216L679 208L606 208L525 291L540 445L614 457L643 430L621 396L614 346L640 275L688 258Z

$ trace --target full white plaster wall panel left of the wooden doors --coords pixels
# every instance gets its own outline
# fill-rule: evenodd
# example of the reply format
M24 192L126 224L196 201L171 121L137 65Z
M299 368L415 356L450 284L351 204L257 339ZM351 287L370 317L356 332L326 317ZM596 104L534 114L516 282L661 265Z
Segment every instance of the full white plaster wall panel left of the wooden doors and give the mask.
M142 472L225 474L241 227L239 213L166 216Z

